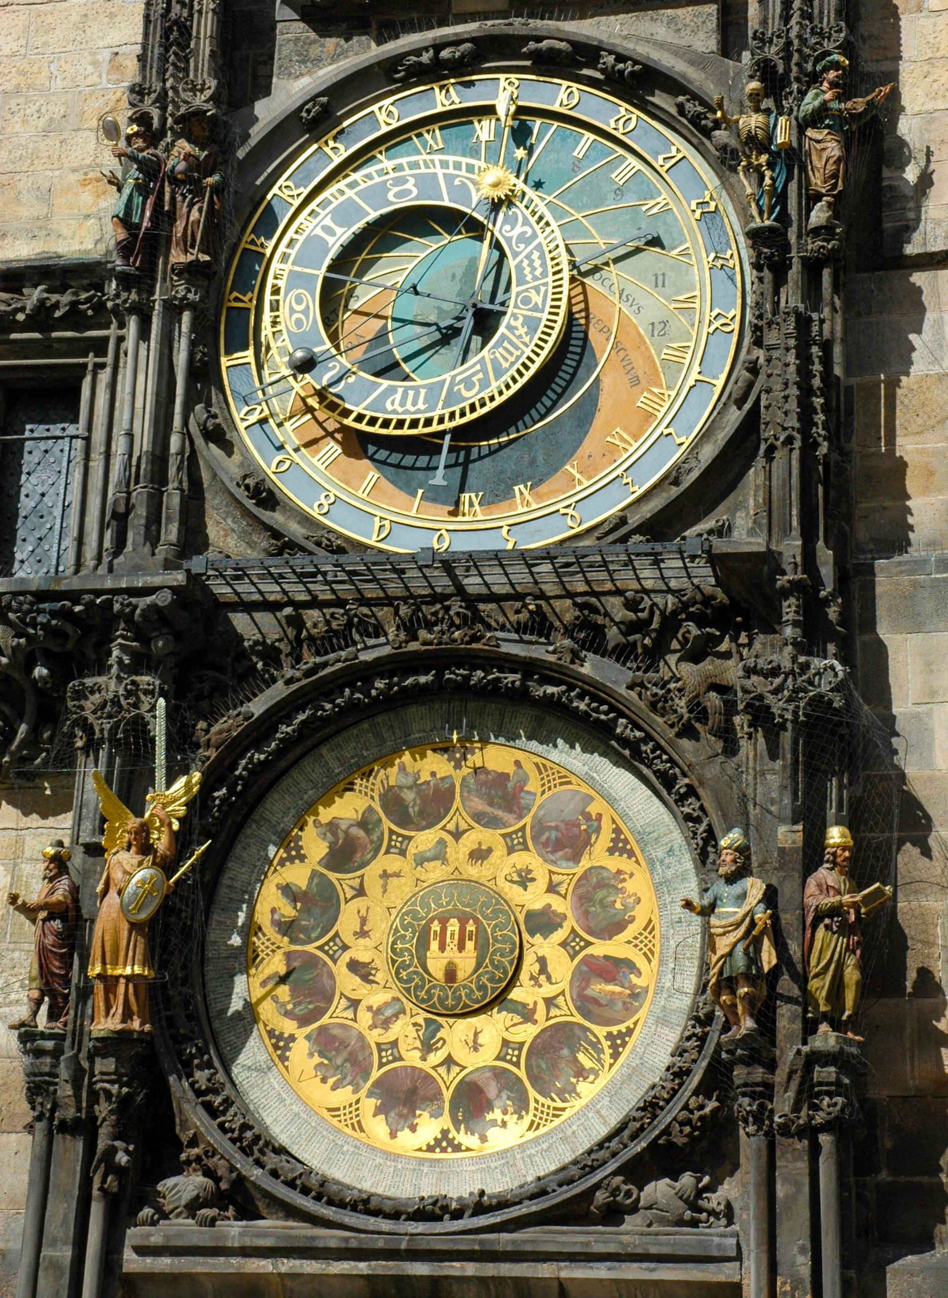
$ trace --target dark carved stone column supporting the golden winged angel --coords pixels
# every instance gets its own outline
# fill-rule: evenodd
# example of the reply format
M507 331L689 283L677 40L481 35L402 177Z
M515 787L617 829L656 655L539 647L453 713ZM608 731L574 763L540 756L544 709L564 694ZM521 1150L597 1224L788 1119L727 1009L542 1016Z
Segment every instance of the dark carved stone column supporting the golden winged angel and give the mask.
M86 1238L82 1298L101 1298L109 1246L112 1203L127 1189L135 1153L134 1133L144 1102L149 1036L113 1033L92 1037L90 1055L99 1140L92 1159L92 1206Z

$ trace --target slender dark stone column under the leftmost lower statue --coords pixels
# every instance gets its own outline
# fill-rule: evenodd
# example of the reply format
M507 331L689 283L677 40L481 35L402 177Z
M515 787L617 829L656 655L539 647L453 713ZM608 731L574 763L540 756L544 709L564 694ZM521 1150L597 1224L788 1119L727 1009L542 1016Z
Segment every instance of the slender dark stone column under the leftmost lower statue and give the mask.
M17 1032L23 1058L26 1102L32 1112L30 1182L23 1212L23 1241L17 1272L17 1298L35 1298L43 1224L49 1193L49 1166L53 1157L53 1114L60 1084L60 1062L66 1035L52 1028L21 1028Z

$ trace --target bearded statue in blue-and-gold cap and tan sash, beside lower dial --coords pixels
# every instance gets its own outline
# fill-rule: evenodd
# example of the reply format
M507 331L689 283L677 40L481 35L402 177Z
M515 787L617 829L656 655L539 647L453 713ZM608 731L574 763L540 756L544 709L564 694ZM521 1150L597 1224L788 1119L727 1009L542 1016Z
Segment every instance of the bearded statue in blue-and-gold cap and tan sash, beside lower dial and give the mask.
M709 916L709 992L731 1024L725 1040L757 1028L766 974L777 963L764 883L751 875L751 844L743 829L721 840L718 877L701 898L682 898L692 915Z

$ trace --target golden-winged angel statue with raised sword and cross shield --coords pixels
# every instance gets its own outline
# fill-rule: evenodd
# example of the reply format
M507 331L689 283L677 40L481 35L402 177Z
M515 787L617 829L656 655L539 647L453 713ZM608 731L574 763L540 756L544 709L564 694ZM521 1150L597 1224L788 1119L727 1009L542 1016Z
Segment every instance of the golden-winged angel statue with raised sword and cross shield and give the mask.
M96 889L99 915L88 958L95 984L92 1032L151 1032L148 981L155 970L148 919L174 887L165 868L174 859L174 835L201 776L182 775L166 792L149 793L144 816L134 816L99 771L92 783L105 818L105 870Z

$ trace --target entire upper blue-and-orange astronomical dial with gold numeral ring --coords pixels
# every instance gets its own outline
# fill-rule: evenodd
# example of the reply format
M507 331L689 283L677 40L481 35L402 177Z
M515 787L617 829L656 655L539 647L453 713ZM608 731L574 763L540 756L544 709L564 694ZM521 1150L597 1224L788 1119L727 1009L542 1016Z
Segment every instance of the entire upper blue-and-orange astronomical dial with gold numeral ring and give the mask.
M395 552L578 535L708 423L745 267L706 164L553 77L412 87L312 145L234 258L231 415L284 498Z

